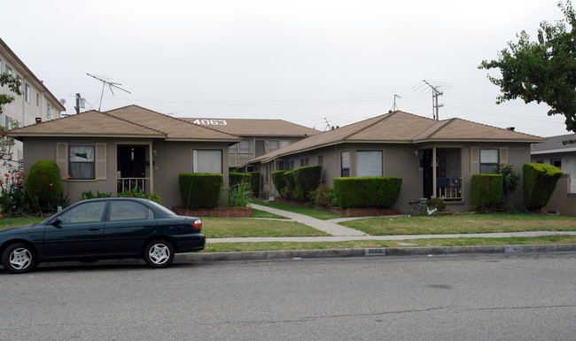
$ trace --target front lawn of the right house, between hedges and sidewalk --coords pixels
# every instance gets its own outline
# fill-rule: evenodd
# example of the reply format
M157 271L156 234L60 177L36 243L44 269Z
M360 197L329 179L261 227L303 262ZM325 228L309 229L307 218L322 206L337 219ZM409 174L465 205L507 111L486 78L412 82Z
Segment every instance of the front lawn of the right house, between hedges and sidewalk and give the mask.
M576 217L545 214L452 214L343 221L372 236L444 235L520 231L576 231Z

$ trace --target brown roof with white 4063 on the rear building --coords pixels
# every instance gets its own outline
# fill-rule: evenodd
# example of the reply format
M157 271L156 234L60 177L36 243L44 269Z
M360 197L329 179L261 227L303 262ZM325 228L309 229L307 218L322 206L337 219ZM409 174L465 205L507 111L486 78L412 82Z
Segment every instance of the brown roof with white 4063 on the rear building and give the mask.
M203 127L215 128L224 133L235 136L314 136L320 131L300 126L286 120L260 120L260 119L197 119L183 118L188 122L200 124ZM206 124L212 121L218 124ZM203 123L204 122L204 123ZM222 124L225 122L226 124Z

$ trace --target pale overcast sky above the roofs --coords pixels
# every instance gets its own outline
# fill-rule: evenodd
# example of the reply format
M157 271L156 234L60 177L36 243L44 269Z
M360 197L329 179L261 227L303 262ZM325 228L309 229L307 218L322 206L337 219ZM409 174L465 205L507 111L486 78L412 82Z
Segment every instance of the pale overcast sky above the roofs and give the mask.
M283 119L323 130L398 109L536 136L568 134L547 105L495 105L477 66L562 12L553 0L3 2L0 36L74 113L141 105L176 117ZM495 74L495 73L493 73Z

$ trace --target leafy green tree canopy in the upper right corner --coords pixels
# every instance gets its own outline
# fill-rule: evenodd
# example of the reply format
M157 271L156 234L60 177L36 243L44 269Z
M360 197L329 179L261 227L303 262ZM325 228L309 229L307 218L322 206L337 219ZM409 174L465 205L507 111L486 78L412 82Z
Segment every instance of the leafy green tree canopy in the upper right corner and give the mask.
M570 1L558 3L564 19L555 25L542 21L537 42L520 32L498 59L483 60L479 69L500 69L502 78L487 75L500 87L496 104L521 98L526 104L544 102L548 114L563 114L566 130L576 132L576 14Z

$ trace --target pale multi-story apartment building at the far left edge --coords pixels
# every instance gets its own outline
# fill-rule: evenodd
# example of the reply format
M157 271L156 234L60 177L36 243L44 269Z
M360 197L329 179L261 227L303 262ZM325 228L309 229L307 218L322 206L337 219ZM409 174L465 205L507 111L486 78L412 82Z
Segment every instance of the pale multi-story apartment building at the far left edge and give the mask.
M17 96L7 86L0 87L1 94L15 97L12 103L4 105L0 125L10 129L16 128L12 125L15 121L19 127L28 126L39 121L58 119L60 112L66 110L46 88L43 81L32 73L2 39L0 39L0 73L12 74L12 77L20 81L22 91L22 96ZM12 159L21 160L22 151L22 143L17 141L12 148Z

